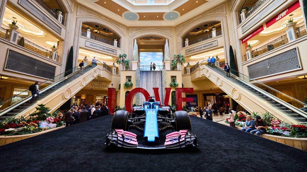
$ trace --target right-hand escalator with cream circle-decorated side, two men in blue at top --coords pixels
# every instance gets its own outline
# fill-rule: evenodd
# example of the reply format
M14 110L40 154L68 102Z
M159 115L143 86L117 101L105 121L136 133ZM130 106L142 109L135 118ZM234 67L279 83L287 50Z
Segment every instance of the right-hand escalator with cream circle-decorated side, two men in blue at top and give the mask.
M307 104L233 69L230 73L231 76L227 77L226 71L220 67L201 66L202 75L208 77L224 92L229 93L235 101L248 111L262 113L268 111L281 120L293 124L307 124L307 113L300 109L306 107ZM238 73L239 77L233 73Z

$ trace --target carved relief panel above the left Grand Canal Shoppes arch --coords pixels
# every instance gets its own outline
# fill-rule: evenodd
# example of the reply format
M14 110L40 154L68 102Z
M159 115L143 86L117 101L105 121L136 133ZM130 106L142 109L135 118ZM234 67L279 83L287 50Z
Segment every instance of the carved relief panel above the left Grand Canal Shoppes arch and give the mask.
M82 6L79 6L78 5L78 9L77 9L77 16L86 16L86 15L90 15L91 18L99 18L100 21L99 22L96 22L96 23L99 23L99 24L103 24L103 22L108 22L106 26L109 26L109 25L112 25L112 26L115 26L116 28L119 29L120 32L122 32L123 35L125 35L125 32L126 32L126 27L123 26L122 24L119 24L115 21L112 21L106 17L103 17L89 9L86 9ZM114 29L113 29L114 30Z

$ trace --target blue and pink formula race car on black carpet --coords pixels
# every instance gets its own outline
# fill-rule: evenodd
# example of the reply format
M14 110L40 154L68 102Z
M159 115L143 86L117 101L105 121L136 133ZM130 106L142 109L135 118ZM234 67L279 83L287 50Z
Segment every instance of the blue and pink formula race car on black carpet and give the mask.
M129 132L131 127L144 132L142 140L137 140L137 135ZM160 144L159 132L165 129L173 129L175 132L167 134L165 143ZM133 107L131 114L126 110L115 112L106 145L161 149L196 147L196 142L188 113L176 111L172 114L170 107L161 107L161 104L151 97L143 106Z

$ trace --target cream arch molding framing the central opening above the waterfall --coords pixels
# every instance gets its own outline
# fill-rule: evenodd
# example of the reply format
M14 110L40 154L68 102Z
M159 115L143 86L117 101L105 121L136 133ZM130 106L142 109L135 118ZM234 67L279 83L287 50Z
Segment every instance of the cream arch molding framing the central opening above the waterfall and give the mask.
M168 39L169 54L172 57L174 54L174 37L172 28L130 28L129 29L129 55L128 58L131 61L133 54L134 39L142 36L160 36Z

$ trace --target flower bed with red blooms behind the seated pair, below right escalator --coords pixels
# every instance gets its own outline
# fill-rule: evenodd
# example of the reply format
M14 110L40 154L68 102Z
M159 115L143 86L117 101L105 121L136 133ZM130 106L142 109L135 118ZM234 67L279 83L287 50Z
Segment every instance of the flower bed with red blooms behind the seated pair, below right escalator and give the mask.
M253 112L251 115L252 119L256 117L258 113ZM266 129L266 134L284 136L284 137L296 137L296 138L307 138L307 124L305 125L291 125L288 122L280 121L274 119L272 114L266 112L262 114L262 119L268 124L269 128ZM244 127L246 121L246 114L243 112L238 112L235 114L235 125L239 127ZM225 123L229 124L228 119Z

